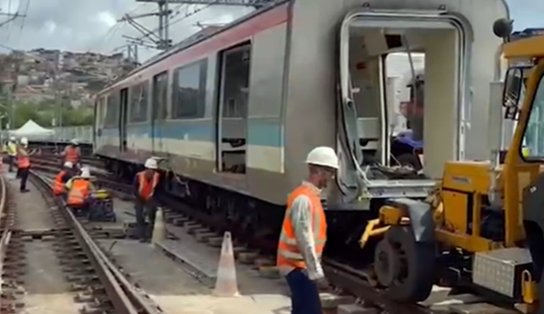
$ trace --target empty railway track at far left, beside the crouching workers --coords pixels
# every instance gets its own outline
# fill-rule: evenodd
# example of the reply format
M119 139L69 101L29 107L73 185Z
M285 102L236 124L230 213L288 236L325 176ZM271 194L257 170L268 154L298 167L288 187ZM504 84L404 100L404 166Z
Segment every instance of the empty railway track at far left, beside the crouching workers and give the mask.
M161 313L52 197L47 178L31 172L25 194L9 180L0 177L1 313Z

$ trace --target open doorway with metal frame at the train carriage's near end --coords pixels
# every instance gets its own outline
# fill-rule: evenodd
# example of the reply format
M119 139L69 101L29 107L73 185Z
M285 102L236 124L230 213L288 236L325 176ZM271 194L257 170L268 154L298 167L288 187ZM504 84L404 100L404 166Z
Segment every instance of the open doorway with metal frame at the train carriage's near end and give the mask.
M454 151L456 158L462 159L465 142L464 111L468 103L466 82L471 51L470 37L470 26L466 25L464 19L445 10L362 8L351 11L344 17L338 33L337 150L342 167L337 176L337 184L345 202L349 203L361 195L365 199L424 197L436 184L429 179L384 179L384 176L367 170L362 154L360 136L365 131L365 125L361 125L357 108L377 106L380 114L376 116L379 120L376 132L380 141L376 160L383 167L374 168L382 173L388 171L383 170L389 166L390 155L387 96L383 88L383 56L403 47L410 47L414 43L423 47L421 49L427 56L425 69L427 71L429 68L434 79L433 84L428 84L433 86L426 90L425 97L431 100L442 97L437 103L444 108L429 107L442 109L442 128L447 130L444 131L447 133L444 138L454 139L447 143L444 139L440 142L436 138L426 138L425 145L434 147L433 153L438 155L434 158L434 168L442 167L442 159L454 158ZM360 42L364 44L357 44ZM369 68L372 70L363 74L354 70L353 65L362 62L371 64ZM374 85L364 85L368 81L372 81ZM376 88L380 84L382 86ZM440 115L433 113L434 116ZM439 146L443 149L438 149ZM434 172L437 172L434 168Z

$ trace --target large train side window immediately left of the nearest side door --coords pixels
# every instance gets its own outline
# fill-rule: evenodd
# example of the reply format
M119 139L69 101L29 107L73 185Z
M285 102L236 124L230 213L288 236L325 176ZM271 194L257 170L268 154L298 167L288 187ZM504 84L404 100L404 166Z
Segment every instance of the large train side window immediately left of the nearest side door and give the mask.
M204 116L207 69L208 60L204 59L174 71L173 119Z

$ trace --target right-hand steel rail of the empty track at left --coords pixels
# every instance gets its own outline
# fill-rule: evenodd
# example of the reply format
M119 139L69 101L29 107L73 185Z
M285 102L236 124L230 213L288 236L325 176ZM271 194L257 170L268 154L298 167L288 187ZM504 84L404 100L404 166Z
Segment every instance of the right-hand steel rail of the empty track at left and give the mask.
M47 179L31 170L31 179L35 180L41 187L43 193L51 193L51 186ZM132 284L126 280L121 272L108 260L94 240L87 234L85 228L79 223L73 213L63 204L60 199L56 199L56 204L61 209L68 225L74 231L74 234L93 264L100 282L104 286L109 300L111 301L115 313L118 314L140 314L140 313L160 313L159 309L153 308L148 302L138 294Z

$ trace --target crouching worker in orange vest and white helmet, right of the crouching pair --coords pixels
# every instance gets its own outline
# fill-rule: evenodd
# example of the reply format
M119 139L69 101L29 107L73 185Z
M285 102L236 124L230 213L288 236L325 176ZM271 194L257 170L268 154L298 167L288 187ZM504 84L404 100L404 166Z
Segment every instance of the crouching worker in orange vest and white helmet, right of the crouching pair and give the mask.
M68 191L66 205L72 209L74 215L87 212L92 205L91 194L95 191L89 168L84 167L81 175L71 178L66 183L66 190Z

